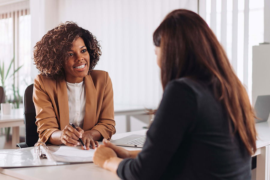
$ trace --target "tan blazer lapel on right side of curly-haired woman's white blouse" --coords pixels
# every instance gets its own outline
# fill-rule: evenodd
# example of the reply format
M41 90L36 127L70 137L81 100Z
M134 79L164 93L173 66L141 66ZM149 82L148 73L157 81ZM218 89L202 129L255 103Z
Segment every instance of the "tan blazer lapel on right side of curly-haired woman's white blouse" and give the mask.
M95 126L97 113L97 91L90 75L84 77L85 84L85 116L82 129L90 130Z

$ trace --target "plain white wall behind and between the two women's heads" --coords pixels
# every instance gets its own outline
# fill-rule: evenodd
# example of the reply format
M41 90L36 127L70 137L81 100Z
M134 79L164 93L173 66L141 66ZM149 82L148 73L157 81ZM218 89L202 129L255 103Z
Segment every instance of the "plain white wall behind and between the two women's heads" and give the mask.
M115 104L157 107L162 88L152 34L171 10L196 12L197 0L30 0L30 8L32 46L60 21L77 22L100 41L95 69L109 72Z

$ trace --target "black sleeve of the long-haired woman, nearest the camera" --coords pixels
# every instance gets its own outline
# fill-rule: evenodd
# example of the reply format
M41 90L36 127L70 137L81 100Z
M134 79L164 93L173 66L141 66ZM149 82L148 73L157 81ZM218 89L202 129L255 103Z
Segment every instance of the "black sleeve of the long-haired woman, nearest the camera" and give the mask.
M119 164L118 176L121 179L166 179L162 174L172 166L171 159L194 127L196 107L196 95L188 85L168 83L155 120L147 131L143 150L135 159L124 159Z

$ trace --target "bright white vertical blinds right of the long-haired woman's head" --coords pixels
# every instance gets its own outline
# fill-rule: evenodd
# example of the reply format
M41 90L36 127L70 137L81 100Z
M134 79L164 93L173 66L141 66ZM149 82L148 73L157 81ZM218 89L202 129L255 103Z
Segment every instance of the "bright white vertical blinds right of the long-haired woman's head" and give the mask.
M263 42L264 0L199 0L199 15L225 49L251 97L252 46Z

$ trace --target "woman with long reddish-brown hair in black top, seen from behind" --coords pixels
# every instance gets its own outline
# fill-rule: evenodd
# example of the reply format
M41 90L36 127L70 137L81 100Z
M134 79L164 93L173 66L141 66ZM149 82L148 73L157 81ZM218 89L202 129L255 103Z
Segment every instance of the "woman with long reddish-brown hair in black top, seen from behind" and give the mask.
M164 95L146 143L140 152L103 140L94 163L122 179L250 179L254 114L214 33L180 9L153 39Z

